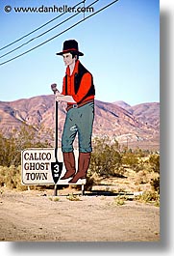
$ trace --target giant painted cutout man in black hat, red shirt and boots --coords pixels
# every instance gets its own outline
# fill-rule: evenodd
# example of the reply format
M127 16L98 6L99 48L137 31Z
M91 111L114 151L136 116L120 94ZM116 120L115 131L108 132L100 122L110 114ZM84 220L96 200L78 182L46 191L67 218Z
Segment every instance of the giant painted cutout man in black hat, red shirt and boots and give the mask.
M79 179L87 177L90 162L91 135L94 119L95 88L92 74L79 61L84 54L79 51L75 40L63 43L62 52L66 66L62 82L62 95L72 96L73 102L67 102L67 112L62 132L62 156L66 172L61 178L69 179L69 183L76 184ZM78 134L79 158L76 172L73 142Z

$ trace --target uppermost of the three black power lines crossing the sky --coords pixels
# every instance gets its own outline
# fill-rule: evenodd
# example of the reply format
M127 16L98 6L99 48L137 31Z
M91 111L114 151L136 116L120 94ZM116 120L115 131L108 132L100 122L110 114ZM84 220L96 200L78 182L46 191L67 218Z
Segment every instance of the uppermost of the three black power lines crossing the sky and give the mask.
M76 4L73 8L76 8L77 6L79 6L79 5L83 4L83 3L85 4L85 2L86 2L86 0L84 0L84 1L82 1L82 2L79 2L79 3ZM63 14L66 14L66 13L63 13ZM0 48L0 50L3 50L3 49L5 49L5 48L11 46L12 44L17 43L17 42L19 42L19 41L25 39L26 37L28 37L28 36L32 35L33 33L37 32L39 29L41 29L41 28L45 27L46 25L50 24L51 22L53 22L53 21L56 20L57 18L61 17L63 14L60 14L59 16L56 16L56 17L54 17L53 19L47 21L47 22L44 23L43 25L37 27L35 30L33 30L33 31L31 31L30 33L24 35L23 37L21 37L21 38L15 40L14 42L9 43L9 44L3 46L2 48ZM5 55L4 55L4 56L5 56ZM3 57L3 56L1 56L1 58L2 58L2 57Z

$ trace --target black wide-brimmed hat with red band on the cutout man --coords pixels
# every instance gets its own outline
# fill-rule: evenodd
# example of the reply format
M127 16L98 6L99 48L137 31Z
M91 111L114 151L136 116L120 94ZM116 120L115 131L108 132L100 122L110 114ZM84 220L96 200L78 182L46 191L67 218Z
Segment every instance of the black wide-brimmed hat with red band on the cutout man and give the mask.
M67 52L74 52L75 54L79 56L84 56L84 53L79 51L78 43L75 40L67 40L64 41L63 47L62 47L62 52L56 53L57 55L62 55L63 53Z

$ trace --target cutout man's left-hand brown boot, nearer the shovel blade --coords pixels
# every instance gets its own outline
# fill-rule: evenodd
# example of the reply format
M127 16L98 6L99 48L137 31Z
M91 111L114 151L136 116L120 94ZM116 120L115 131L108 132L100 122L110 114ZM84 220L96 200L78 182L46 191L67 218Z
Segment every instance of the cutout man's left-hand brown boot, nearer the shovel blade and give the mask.
M61 180L65 180L72 177L76 173L75 156L73 152L62 153L62 156L66 168L66 173L61 178Z

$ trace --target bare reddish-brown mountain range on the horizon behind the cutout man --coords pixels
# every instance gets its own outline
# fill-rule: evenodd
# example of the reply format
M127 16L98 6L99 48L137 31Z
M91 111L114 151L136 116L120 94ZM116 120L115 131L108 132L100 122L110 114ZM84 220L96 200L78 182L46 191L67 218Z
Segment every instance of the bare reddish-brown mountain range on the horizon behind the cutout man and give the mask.
M54 95L31 99L0 101L0 130L8 136L24 123L33 126L42 137L55 129ZM59 138L65 118L65 104L59 103ZM121 146L160 149L160 103L147 102L131 106L119 100L112 103L95 100L93 137L110 136Z

